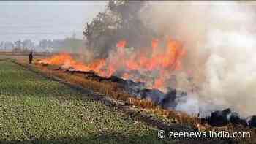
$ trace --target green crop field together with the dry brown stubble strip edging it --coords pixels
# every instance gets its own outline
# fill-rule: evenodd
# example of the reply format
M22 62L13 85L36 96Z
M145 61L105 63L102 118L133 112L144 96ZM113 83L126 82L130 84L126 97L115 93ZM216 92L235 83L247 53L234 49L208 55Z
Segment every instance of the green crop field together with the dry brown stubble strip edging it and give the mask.
M83 88L77 88L77 84ZM255 142L159 139L158 129L194 131L189 127L193 118L187 115L180 117L176 112L140 108L143 104L140 102L140 107L132 108L134 111L130 110L131 106L123 110L124 107L116 103L108 103L107 97L117 99L117 96L120 99L126 96L118 92L116 95L109 88L108 83L81 79L36 64L29 65L28 56L0 53L0 143ZM120 100L124 102L124 99ZM173 121L177 116L182 122ZM156 121L151 121L151 118Z

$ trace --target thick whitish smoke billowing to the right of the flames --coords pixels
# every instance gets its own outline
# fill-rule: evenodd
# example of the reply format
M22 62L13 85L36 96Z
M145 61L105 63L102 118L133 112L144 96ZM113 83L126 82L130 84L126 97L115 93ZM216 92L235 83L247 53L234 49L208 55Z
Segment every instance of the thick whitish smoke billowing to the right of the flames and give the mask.
M200 87L200 111L231 107L242 116L256 114L256 8L235 1L150 3L141 19L184 43L184 69Z

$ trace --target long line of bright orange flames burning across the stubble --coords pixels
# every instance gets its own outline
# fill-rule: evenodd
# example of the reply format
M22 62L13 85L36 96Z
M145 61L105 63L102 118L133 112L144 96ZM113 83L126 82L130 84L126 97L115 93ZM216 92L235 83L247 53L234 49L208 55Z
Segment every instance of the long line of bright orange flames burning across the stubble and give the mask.
M90 64L75 61L67 53L43 59L42 62L81 71L92 70L105 77L118 74L125 79L151 81L151 88L161 89L166 87L165 80L170 78L171 72L182 69L182 58L186 55L186 50L180 42L173 39L168 39L165 47L160 47L159 42L159 39L153 39L151 48L130 50L126 48L127 42L122 40L108 58L97 59Z

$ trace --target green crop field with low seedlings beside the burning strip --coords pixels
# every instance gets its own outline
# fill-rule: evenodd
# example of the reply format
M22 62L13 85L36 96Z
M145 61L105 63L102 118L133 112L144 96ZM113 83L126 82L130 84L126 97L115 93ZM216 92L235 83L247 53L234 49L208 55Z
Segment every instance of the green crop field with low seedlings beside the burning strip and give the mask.
M0 61L0 143L170 143L89 97Z

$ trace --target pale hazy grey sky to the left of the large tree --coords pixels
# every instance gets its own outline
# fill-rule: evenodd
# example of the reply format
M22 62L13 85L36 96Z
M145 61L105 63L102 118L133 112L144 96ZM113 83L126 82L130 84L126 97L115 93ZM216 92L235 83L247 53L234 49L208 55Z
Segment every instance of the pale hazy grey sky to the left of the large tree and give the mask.
M61 39L75 31L82 37L83 25L106 1L0 1L0 41Z

